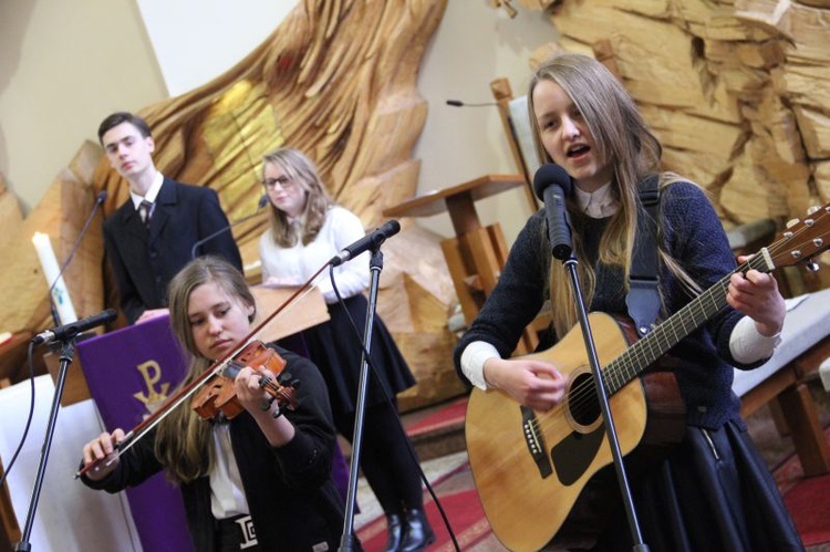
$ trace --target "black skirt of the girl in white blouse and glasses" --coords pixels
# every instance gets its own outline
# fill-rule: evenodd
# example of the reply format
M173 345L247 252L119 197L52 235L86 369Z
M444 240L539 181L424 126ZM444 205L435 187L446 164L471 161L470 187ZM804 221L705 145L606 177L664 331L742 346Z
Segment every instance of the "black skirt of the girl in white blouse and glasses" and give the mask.
M349 298L344 303L345 309L340 303L328 305L331 320L303 332L309 357L318 365L329 387L334 416L355 410L363 357L361 345L369 311L369 301L363 295ZM356 334L347 315L357 327ZM394 399L415 385L406 361L377 315L373 322L370 355L374 368L370 367L367 406L385 402L387 396Z

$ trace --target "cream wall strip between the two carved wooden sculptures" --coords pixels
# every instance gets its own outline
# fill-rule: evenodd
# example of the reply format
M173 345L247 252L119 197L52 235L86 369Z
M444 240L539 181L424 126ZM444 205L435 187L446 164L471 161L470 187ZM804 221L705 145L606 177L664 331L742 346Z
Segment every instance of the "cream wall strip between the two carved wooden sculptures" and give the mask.
M530 53L556 38L553 25L541 12L519 9L510 19L490 4L449 0L424 59L418 90L429 104L429 115L413 153L422 162L421 192L488 174L518 173L495 106L446 104L447 100L492 102L490 82L498 77L510 81L513 95L523 95ZM531 213L525 192L518 189L479 201L477 211L484 225L500 222L508 242ZM453 235L445 216L430 217L428 225L444 236Z

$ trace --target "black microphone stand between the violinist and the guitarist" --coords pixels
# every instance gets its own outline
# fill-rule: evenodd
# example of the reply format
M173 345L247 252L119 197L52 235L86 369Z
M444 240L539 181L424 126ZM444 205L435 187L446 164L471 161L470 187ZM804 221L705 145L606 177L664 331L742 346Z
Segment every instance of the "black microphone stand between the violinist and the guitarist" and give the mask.
M366 390L369 387L369 358L366 355L372 347L372 327L374 326L375 309L377 306L377 288L383 270L383 253L381 244L375 243L370 250L372 257L369 261L369 309L366 310L366 326L363 330L363 353L361 357L361 375L357 388L357 403L355 405L354 435L352 438L352 462L349 467L349 491L346 493L345 518L343 521L343 537L340 541L340 551L354 550L354 508L357 499L357 470L360 469L361 445L363 441L363 415L366 409Z

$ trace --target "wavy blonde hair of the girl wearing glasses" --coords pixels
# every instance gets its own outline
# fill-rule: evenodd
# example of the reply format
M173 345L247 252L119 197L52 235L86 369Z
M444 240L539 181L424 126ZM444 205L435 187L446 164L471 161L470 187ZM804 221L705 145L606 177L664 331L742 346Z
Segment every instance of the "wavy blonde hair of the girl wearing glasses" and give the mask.
M270 205L271 236L274 243L280 247L290 248L298 242L303 246L311 243L325 222L325 212L332 205L331 197L318 175L317 167L305 154L299 149L281 147L262 156L262 170L266 165L272 163L280 167L295 186L305 194L305 206L300 220L301 227L290 223L288 216Z

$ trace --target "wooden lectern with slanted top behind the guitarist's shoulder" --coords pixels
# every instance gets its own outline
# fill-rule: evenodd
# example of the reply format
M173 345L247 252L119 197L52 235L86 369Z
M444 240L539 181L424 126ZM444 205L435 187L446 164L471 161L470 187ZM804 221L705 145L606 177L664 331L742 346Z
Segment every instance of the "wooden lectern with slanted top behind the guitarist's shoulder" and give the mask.
M483 227L476 212L479 199L527 187L522 175L487 175L468 183L418 196L383 211L384 217L428 217L448 212L456 237L440 242L464 317L469 324L498 281L508 248L498 223ZM525 331L518 354L533 351L538 337Z

